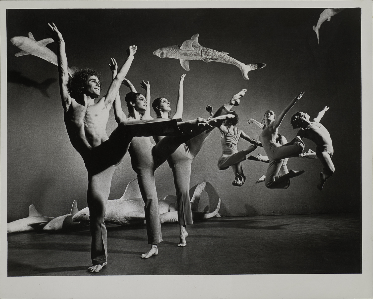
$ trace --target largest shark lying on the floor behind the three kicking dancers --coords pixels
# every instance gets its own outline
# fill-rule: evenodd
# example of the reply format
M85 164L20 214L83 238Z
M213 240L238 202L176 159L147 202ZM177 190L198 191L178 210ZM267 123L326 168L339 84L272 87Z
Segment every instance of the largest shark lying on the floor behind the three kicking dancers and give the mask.
M194 206L194 201L198 200L201 192L204 190L206 182L200 183L194 191L191 200L191 205ZM140 195L140 198L138 197ZM135 198L128 198L129 196L136 196ZM176 196L167 195L163 200L159 199L159 214L160 222L177 222L178 214L175 209ZM116 200L108 200L106 204L105 222L114 223L118 225L129 225L135 223L143 223L145 220L144 201L142 200L140 189L138 187L137 179L132 180L127 185L123 196ZM220 198L217 208L211 212L192 211L194 220L208 219L211 217L220 217ZM88 207L80 210L72 217L72 221L89 222L90 211Z

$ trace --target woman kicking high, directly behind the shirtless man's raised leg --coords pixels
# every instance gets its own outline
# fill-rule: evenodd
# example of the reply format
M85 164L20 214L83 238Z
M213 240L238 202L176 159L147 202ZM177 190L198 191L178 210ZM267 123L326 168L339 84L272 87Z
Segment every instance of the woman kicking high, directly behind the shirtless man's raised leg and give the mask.
M116 61L112 60L113 78L116 76ZM116 121L118 123L128 120L149 120L153 119L150 116L150 84L142 81L141 87L146 90L145 97L140 93L135 92L134 86L126 80L126 84L130 86L132 92L128 93L125 97L127 103L129 117L126 117L122 111L120 104L119 93L115 99L114 112ZM211 120L209 123L219 125L222 120ZM203 127L211 128L203 118L185 122L189 125L189 129ZM200 128L201 129L201 128ZM202 130L202 129L201 129ZM162 134L154 134L162 135ZM152 255L158 254L157 244L162 242L162 231L159 218L158 196L154 178L155 170L162 165L164 161L188 139L192 137L191 134L179 137L165 137L155 146L150 142L149 137L135 137L131 141L128 149L131 155L132 169L137 173L139 188L141 191L142 199L145 202L145 220L148 235L148 244L151 244L150 250L142 254L142 258L149 258Z

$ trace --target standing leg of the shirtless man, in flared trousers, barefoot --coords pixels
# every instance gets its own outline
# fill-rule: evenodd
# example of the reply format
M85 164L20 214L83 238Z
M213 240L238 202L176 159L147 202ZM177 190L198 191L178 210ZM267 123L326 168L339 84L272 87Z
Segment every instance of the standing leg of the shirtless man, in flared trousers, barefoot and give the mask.
M99 272L107 264L105 210L115 166L88 176L87 203L90 210L90 231L92 236L90 272Z

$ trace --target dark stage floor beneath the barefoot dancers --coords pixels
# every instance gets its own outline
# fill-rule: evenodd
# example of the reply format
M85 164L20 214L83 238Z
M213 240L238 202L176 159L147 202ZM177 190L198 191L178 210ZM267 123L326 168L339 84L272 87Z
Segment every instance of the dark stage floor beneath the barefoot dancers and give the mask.
M76 232L8 235L8 276L360 273L360 214L222 217L162 224L159 254L145 226L107 225L108 265L88 273L89 226Z

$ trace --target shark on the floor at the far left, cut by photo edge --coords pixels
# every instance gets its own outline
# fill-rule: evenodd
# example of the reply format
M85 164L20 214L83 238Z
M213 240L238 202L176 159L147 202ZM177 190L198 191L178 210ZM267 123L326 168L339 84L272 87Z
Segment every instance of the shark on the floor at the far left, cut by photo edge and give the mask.
M8 233L27 232L28 230L41 229L54 217L44 217L40 214L33 204L28 208L27 218L22 218L8 223Z

